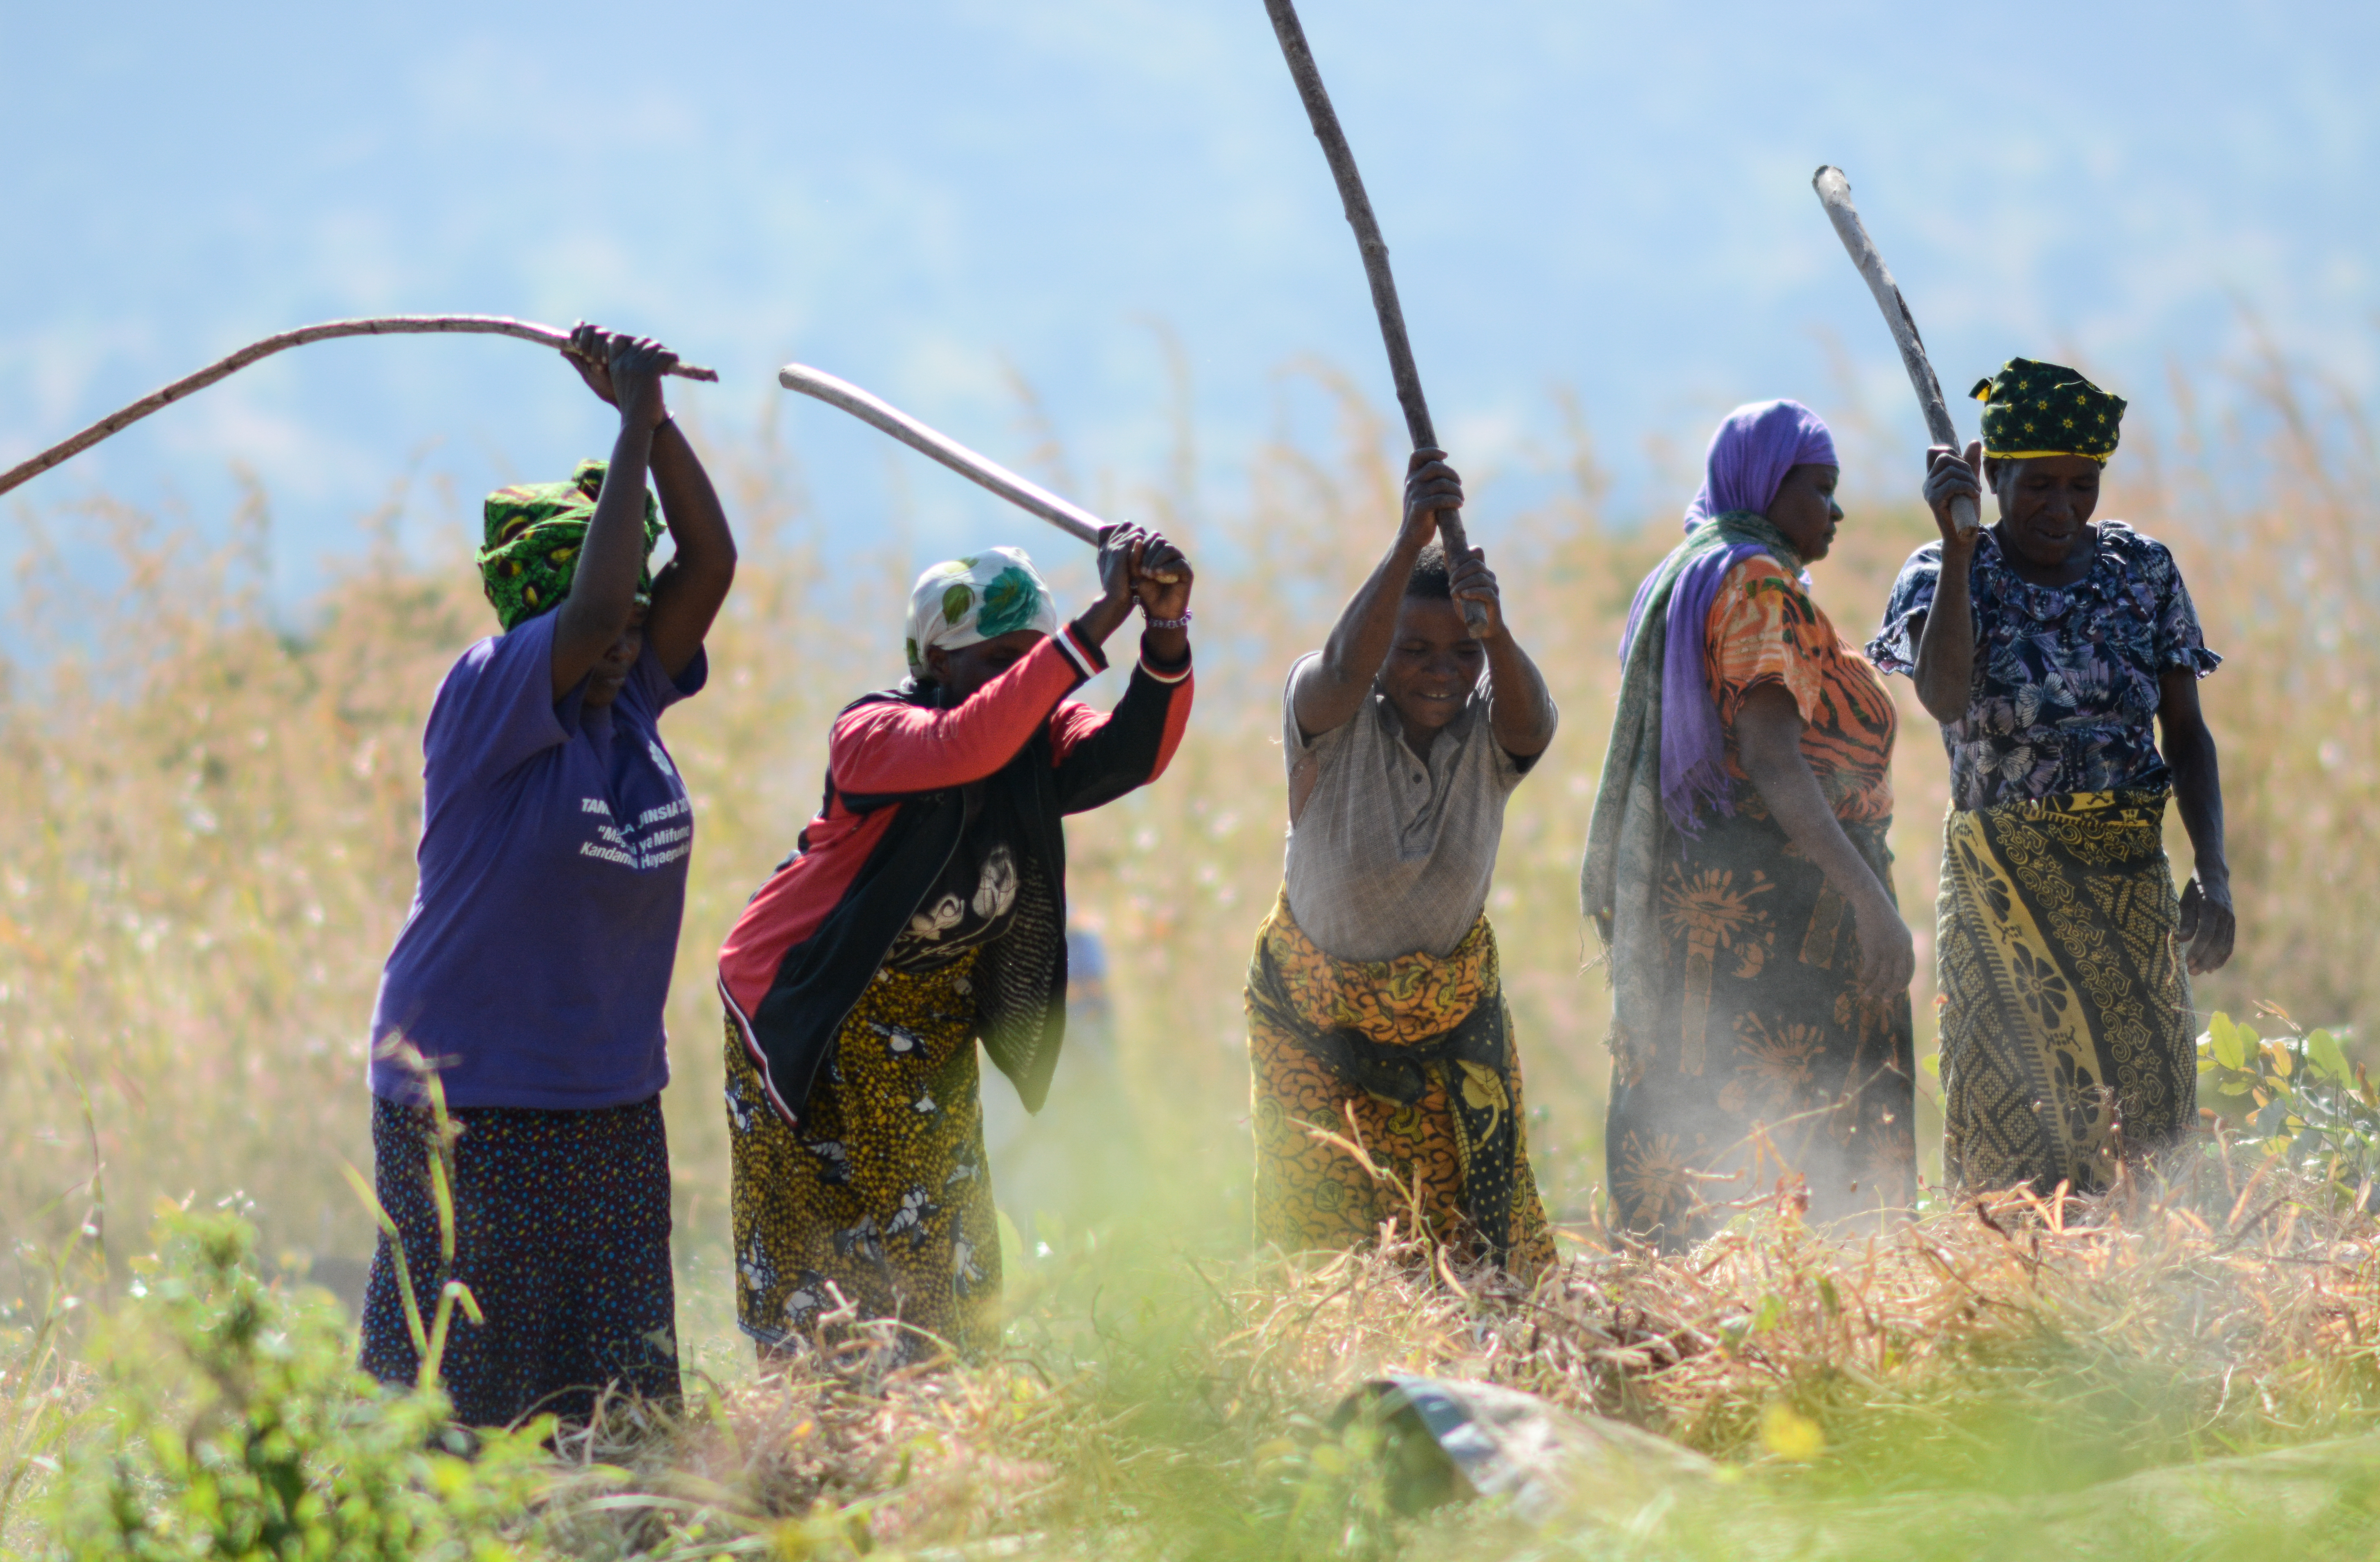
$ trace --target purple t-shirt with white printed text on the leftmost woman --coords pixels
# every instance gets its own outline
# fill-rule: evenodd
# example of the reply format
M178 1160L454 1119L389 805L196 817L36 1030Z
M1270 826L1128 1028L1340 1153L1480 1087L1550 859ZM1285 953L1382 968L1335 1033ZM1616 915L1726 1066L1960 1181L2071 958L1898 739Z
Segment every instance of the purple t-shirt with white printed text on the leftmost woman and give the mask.
M555 702L555 614L481 641L421 733L421 883L381 971L371 1043L400 1033L455 1107L621 1107L669 1083L662 1000L695 817L659 714L702 652L659 657L609 710ZM371 1093L414 1100L376 1057Z

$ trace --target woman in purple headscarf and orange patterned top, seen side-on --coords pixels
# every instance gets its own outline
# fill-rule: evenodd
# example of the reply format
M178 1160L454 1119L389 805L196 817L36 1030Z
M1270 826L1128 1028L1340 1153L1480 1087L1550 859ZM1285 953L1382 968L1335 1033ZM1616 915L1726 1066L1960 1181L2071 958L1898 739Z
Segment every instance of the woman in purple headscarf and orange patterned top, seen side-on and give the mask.
M1785 1174L1814 1219L1914 1193L1897 721L1804 574L1842 521L1837 476L1799 402L1735 410L1621 652L1583 895L1614 988L1611 1200L1664 1248Z

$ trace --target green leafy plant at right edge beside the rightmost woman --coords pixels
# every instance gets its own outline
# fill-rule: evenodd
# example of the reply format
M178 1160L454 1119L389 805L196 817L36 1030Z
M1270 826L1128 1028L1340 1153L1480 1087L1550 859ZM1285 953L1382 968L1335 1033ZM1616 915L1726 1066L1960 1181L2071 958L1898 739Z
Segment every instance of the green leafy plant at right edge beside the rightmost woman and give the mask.
M2237 1143L2368 1207L2380 1179L2380 1088L2328 1029L2309 1031L2275 1005L2261 1005L2261 1014L2280 1026L2278 1036L2221 1012L2209 1021L2199 1083L2213 1088L2218 1114L2244 1112Z

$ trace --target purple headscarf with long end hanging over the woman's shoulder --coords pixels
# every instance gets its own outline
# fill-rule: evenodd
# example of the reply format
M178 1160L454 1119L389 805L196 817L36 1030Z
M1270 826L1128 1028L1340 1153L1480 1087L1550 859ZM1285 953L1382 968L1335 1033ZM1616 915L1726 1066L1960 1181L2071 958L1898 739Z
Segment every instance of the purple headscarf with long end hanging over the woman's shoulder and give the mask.
M1711 450L1702 460L1702 493L1685 512L1685 529L1695 531L1730 512L1766 514L1785 486L1785 474L1804 462L1840 464L1835 436L1816 412L1797 400L1737 407L1711 436ZM1721 814L1735 812L1726 767L1728 738L1718 726L1718 705L1711 700L1702 664L1718 583L1759 552L1768 552L1768 545L1714 548L1678 571L1668 595L1668 633L1661 641L1661 810L1687 836L1702 833L1704 805ZM1630 643L1649 591L1647 579L1628 614Z

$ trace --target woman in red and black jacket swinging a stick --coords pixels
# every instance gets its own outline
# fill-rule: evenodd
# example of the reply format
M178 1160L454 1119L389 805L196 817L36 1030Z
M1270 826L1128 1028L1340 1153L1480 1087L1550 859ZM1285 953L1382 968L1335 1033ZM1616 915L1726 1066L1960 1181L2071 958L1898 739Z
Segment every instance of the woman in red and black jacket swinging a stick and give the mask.
M1000 1319L976 1038L1040 1110L1066 1029L1064 817L1164 774L1190 721L1190 564L1111 526L1073 624L1014 548L909 595L909 679L835 717L826 802L719 952L735 1310L762 1355L897 1319L966 1355ZM1140 605L1116 710L1069 700Z

